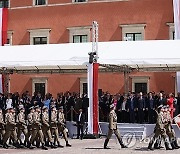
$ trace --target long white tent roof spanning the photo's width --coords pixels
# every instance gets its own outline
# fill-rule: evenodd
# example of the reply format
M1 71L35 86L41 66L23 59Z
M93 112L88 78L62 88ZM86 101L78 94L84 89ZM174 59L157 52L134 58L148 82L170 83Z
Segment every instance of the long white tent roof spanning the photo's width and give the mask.
M1 46L0 67L15 69L81 69L89 61L92 43ZM132 68L180 67L179 40L98 43L100 64Z

